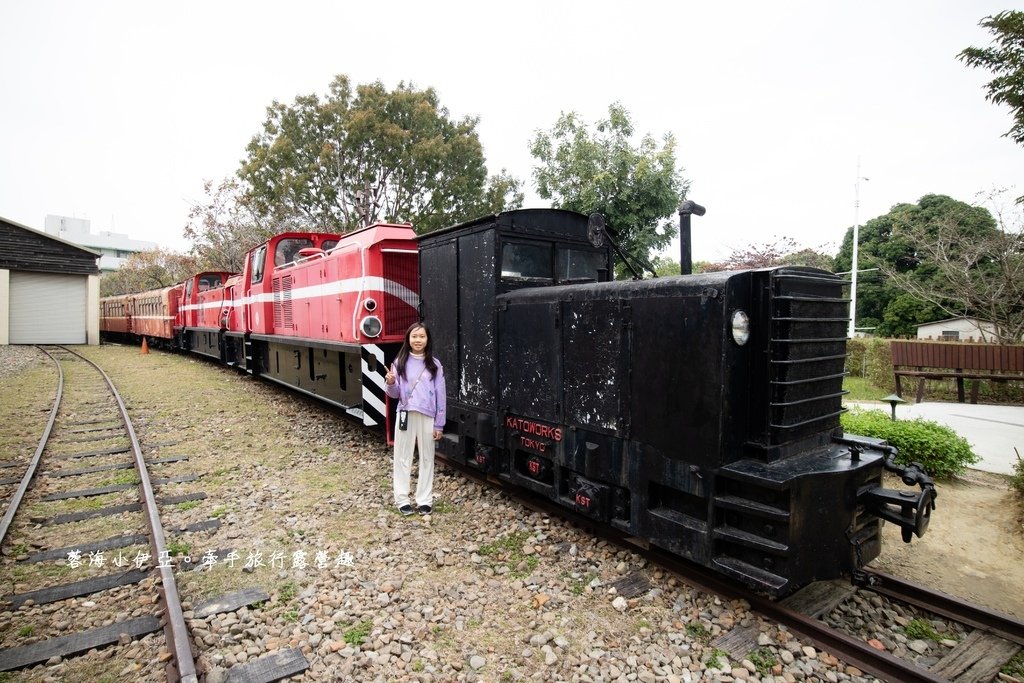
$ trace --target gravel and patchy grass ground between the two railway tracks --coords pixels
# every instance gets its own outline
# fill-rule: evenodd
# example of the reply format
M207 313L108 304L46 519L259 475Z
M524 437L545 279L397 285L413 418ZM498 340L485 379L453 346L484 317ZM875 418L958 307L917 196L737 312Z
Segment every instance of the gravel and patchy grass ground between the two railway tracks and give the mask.
M8 349L22 356L19 347L0 349L5 373L32 365L8 365ZM208 681L291 647L309 663L291 680L304 681L876 680L743 602L692 590L628 548L444 466L433 514L402 517L391 504L382 436L281 388L178 354L105 345L84 352L117 384L143 447L160 444L150 457L187 455L171 473L202 474L159 495L208 496L163 511L180 544L177 561L206 557L210 565L177 574ZM205 519L220 525L173 532ZM232 560L211 559L227 550ZM638 574L641 593L613 588ZM249 587L269 599L205 618L191 611ZM942 639L919 643L900 630L915 616L861 592L829 621L925 663L962 637L937 623ZM758 645L733 657L714 643L737 628L756 631ZM60 664L32 673L75 680ZM118 680L157 674L140 663Z

